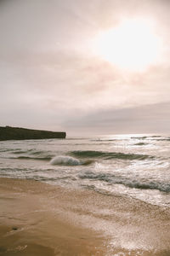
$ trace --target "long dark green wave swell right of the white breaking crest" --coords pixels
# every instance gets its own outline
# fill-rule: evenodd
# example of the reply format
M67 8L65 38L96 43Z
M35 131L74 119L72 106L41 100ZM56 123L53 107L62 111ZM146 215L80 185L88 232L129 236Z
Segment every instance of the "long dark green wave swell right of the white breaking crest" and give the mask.
M80 158L102 158L105 160L110 159L120 159L120 160L145 160L153 159L154 156L147 154L124 154L117 152L103 152L103 151L94 151L94 150L85 150L85 151L71 151L71 156L80 157Z

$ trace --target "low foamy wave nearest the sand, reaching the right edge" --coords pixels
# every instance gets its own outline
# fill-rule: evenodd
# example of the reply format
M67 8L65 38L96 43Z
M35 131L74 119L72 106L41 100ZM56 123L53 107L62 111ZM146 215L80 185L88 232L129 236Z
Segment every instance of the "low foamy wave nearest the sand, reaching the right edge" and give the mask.
M122 184L132 189L157 189L160 190L161 192L170 192L170 183L160 183L154 181L141 182L139 180L132 180L127 177L117 177L116 175L112 175L110 173L84 172L82 174L79 174L79 177L82 179L105 181L110 184Z

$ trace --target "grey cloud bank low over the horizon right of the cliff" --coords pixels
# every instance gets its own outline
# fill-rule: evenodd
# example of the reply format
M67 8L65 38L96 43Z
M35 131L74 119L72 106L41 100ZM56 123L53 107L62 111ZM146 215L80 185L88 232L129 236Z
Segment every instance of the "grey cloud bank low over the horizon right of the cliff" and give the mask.
M170 129L169 108L170 102L138 108L99 109L68 119L63 126L74 135L79 131L88 135L168 133Z

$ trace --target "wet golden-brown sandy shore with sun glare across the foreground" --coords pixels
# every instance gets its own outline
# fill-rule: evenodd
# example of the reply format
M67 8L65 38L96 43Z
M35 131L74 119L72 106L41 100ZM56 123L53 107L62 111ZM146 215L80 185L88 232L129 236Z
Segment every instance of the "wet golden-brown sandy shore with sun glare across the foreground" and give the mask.
M126 197L0 178L0 255L170 255L170 211Z

